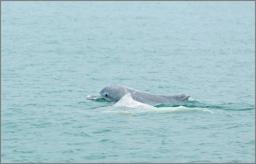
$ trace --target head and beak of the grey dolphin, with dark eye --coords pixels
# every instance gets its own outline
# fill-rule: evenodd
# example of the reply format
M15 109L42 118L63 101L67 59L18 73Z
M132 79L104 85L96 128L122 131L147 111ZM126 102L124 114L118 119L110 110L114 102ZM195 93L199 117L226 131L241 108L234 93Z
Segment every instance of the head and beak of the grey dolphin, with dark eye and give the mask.
M126 93L126 88L122 85L113 85L105 87L101 90L100 94L95 96L87 96L87 99L96 100L102 98L106 101L119 101Z

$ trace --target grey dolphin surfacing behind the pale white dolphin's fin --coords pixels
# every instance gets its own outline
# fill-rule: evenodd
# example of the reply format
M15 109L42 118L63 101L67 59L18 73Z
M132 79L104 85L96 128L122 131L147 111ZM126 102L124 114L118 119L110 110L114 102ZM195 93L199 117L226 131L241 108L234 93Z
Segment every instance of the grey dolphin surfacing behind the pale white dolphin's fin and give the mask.
M100 94L96 96L87 96L89 100L96 100L98 98L103 98L107 101L119 101L125 94L130 93L131 97L142 103L172 103L187 101L189 99L188 94L179 94L175 96L165 96L152 93L142 92L141 90L125 87L123 85L113 85L110 87L105 87L101 90Z

